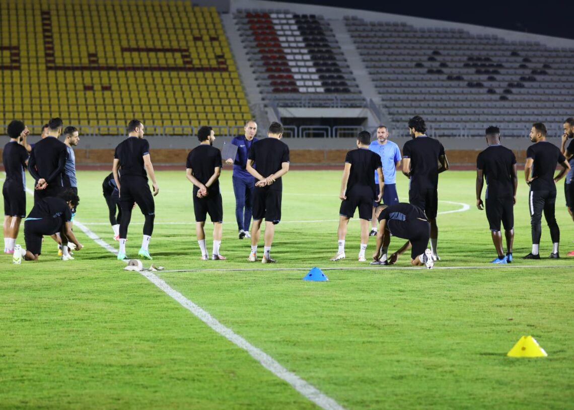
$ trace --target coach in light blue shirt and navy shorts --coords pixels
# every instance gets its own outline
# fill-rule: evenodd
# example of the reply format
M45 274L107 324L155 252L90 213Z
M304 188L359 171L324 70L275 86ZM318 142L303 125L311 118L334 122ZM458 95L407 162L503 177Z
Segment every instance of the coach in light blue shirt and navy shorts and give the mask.
M381 157L381 162L383 164L383 177L385 178L385 190L383 191L383 204L394 205L398 204L397 186L395 185L395 169L401 165L401 150L398 145L394 142L389 141L389 130L385 126L379 126L377 128L377 139L371 142L369 149L379 154ZM379 177L375 172L375 186L378 189ZM370 236L377 235L377 218L375 218L375 206L378 204L373 204L373 218L371 223L373 224L373 229L371 229Z

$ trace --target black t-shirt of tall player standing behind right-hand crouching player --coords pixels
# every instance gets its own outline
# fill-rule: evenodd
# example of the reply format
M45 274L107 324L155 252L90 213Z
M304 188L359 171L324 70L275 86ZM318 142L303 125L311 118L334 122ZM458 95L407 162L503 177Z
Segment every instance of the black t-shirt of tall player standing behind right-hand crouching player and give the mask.
M417 189L436 189L439 186L439 157L444 155L443 145L428 136L405 142L402 157L410 158L410 186Z

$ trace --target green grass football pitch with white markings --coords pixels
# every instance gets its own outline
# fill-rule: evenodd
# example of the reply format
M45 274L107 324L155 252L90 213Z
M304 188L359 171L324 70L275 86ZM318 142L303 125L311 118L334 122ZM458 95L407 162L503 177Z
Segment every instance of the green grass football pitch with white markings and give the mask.
M76 218L117 247L100 188L106 174L78 173ZM221 177L227 261L199 260L191 184L184 171L158 172L153 263L197 270L158 276L344 408L574 408L574 257L566 256L574 249L574 229L562 183L556 213L563 259L520 259L530 251L528 187L521 179L515 262L495 267L488 263L496 255L486 216L475 207L475 173L441 174L439 212L470 209L439 215L442 260L429 271L410 268L408 254L396 265L405 269L356 261L356 220L349 225L347 259L329 261L337 250L341 174L291 171L284 177L272 249L278 263L262 265L247 262L250 244L236 236L231 171ZM397 175L404 201L407 186ZM28 202L30 208L31 196ZM128 256L137 255L142 222L135 209ZM206 228L211 251L209 222ZM74 261L60 261L49 238L36 263L14 265L3 256L0 409L316 408L75 231L86 248ZM391 240L391 251L401 244ZM261 253L262 240L259 246ZM373 248L371 238L367 256ZM541 255L550 250L543 221ZM314 266L343 269L325 269L327 283L301 280ZM548 357L507 358L522 335L533 335Z

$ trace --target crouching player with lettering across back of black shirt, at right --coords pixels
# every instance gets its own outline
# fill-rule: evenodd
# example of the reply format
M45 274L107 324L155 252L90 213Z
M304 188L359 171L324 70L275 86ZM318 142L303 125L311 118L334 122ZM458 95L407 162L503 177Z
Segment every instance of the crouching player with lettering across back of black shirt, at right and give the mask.
M430 223L422 209L399 202L391 206L377 206L375 216L379 220L379 232L377 233L377 251L373 253L374 261L371 265L392 265L403 252L412 248L410 264L426 265L428 269L434 266L432 252L426 248L430 239ZM391 235L408 241L387 258Z

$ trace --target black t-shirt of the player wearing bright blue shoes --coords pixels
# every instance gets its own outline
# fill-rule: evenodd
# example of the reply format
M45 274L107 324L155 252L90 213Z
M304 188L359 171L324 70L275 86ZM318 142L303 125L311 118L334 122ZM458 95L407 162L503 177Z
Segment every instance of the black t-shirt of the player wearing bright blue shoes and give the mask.
M511 198L514 194L512 178L514 153L502 145L491 145L476 158L476 169L483 171L487 183L487 198Z

